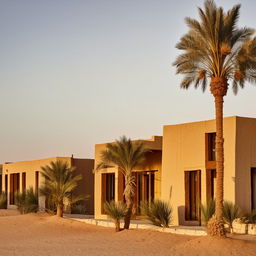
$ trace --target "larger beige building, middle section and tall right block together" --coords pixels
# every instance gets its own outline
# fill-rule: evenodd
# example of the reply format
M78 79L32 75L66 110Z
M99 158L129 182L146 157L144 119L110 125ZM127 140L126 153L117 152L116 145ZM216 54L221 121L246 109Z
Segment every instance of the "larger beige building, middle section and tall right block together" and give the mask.
M144 140L151 148L135 171L139 202L161 198L173 207L174 225L200 225L200 204L215 197L215 120L167 125L163 137ZM256 118L224 118L224 199L244 212L256 209ZM106 144L95 147L95 166ZM118 168L95 174L95 218L106 218L104 202L123 200Z

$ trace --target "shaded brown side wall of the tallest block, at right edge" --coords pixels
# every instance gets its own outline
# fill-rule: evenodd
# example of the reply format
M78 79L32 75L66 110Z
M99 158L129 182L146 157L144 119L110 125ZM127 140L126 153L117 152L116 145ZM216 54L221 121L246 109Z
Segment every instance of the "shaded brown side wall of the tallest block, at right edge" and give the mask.
M256 167L256 119L236 118L235 199L244 212L251 211L251 168Z

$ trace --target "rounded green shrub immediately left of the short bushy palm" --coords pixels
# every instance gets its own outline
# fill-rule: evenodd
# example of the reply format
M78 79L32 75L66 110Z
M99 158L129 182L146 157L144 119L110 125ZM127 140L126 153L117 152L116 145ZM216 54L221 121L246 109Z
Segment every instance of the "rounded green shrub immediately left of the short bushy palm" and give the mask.
M25 192L15 194L15 204L21 214L38 211L38 194L34 193L33 188Z

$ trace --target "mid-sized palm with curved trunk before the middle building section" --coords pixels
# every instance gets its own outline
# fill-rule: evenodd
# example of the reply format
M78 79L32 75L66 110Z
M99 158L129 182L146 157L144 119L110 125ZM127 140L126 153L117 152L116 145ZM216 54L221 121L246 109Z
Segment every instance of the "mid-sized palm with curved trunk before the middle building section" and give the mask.
M108 143L106 149L101 152L101 162L96 170L117 166L125 178L124 197L127 212L124 218L124 228L129 229L133 208L135 177L132 172L138 164L145 159L145 148L142 141L131 141L125 136L115 143Z

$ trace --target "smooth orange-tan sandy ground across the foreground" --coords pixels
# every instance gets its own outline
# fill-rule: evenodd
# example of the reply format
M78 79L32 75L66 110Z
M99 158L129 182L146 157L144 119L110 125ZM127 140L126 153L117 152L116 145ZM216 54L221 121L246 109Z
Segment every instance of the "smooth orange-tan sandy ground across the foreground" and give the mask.
M10 216L7 216L10 215ZM256 255L256 242L113 229L0 210L0 255Z

